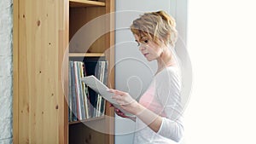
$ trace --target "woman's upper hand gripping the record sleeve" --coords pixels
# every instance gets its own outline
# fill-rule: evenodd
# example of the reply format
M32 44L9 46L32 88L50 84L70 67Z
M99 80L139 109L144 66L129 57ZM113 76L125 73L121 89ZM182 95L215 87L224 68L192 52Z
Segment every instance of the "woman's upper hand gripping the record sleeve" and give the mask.
M122 109L136 115L138 103L129 93L117 89L109 89L108 91L114 94L112 98L116 100Z

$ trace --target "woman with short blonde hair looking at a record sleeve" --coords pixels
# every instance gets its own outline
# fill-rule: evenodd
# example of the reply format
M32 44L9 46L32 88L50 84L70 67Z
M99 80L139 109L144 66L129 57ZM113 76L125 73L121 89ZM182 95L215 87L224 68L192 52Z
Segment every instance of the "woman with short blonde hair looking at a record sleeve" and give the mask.
M157 60L154 80L135 101L131 95L110 89L113 99L122 109L136 117L126 116L119 109L115 112L136 122L134 143L173 143L183 136L181 121L181 78L173 49L177 41L175 20L164 11L145 13L131 25L139 50L148 61Z

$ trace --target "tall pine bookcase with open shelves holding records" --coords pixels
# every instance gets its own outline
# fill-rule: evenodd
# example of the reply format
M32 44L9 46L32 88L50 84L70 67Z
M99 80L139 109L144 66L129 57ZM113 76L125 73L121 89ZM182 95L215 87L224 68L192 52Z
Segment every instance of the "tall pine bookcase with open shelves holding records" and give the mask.
M68 60L104 57L114 66L114 32L105 33L88 51L67 49L79 28L114 11L114 0L14 0L14 143L113 144L113 108L105 116L68 122ZM113 26L106 19L103 28ZM96 24L93 30L101 28ZM90 34L90 32L88 33ZM114 87L114 72L108 86ZM92 130L85 124L107 130Z

